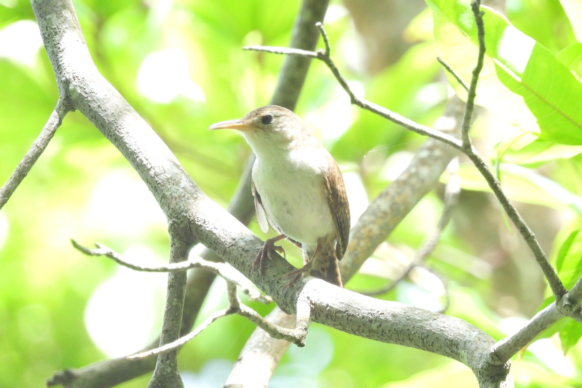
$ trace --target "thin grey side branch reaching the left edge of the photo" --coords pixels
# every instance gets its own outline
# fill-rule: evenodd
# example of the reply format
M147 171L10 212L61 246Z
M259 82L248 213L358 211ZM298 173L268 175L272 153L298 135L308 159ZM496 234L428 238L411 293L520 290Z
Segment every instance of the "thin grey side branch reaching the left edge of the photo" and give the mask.
M61 126L63 118L70 110L70 107L59 99L51 116L48 118L47 123L42 128L41 133L30 146L29 151L26 152L22 161L18 163L18 166L16 166L12 175L2 188L0 188L0 209L2 209L6 202L8 202L16 188L20 183L22 183L24 177L26 177L30 172L30 169L33 168L34 163L36 163L42 152L47 148L49 141L51 141L56 132L56 129Z

